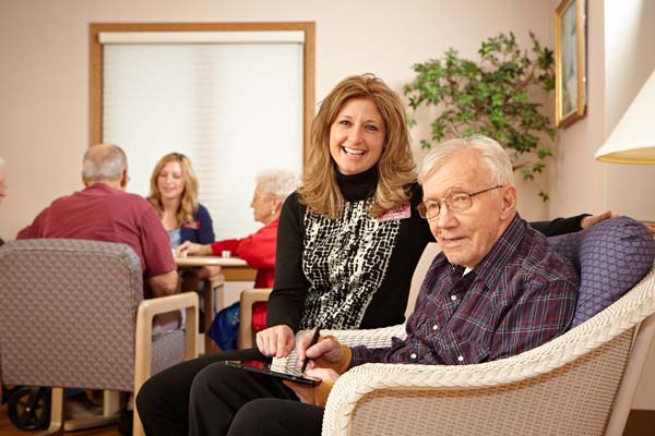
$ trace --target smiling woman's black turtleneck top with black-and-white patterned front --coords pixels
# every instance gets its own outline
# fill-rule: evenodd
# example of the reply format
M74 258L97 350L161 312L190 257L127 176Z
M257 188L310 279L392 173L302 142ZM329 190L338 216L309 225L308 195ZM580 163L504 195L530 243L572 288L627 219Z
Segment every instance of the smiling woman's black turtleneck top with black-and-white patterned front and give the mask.
M404 320L412 275L433 241L416 211L421 191L408 186L408 218L379 220L368 213L376 169L337 174L337 183L346 199L337 219L308 213L296 193L285 202L269 325L376 328Z

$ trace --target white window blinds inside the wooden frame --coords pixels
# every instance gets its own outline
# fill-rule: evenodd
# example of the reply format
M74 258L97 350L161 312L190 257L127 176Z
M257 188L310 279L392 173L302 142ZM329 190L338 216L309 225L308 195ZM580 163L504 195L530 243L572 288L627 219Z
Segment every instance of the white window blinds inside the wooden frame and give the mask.
M243 238L261 227L255 174L301 170L302 34L158 34L100 35L103 141L126 150L129 191L144 196L162 156L187 155L216 239Z

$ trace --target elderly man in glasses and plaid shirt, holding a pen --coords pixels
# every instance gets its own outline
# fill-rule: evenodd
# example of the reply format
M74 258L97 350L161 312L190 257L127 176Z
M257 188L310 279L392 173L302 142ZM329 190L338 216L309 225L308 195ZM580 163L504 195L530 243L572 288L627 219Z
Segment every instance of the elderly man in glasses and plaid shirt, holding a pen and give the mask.
M311 359L307 374L323 382L317 387L285 382L305 403L288 396L246 403L230 423L230 436L320 435L330 388L356 365L492 361L537 347L569 327L577 275L517 215L512 165L498 143L483 136L449 141L426 156L419 180L424 202L418 209L442 252L407 320L407 338L380 349L349 348L332 337L309 347L311 335L301 338L298 359Z

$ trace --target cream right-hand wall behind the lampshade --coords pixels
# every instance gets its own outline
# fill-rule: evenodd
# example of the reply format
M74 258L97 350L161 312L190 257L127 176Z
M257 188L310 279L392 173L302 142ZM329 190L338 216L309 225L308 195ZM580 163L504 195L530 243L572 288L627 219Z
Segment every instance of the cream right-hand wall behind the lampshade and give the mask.
M552 1L553 8L559 0ZM587 3L588 111L560 131L550 180L550 215L611 209L655 220L655 167L608 165L594 154L655 68L655 2L590 0ZM634 409L655 410L655 348L642 374Z

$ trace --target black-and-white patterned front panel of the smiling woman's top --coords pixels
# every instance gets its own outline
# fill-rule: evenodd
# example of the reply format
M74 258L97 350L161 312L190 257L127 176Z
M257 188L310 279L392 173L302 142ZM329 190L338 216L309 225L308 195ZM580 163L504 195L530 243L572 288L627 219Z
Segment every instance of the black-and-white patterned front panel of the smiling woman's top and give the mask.
M302 270L311 283L300 326L361 325L382 286L398 234L400 220L380 222L368 210L372 199L347 202L336 220L305 215Z

